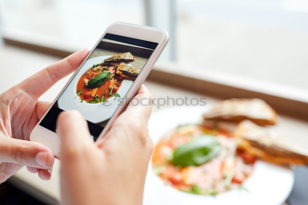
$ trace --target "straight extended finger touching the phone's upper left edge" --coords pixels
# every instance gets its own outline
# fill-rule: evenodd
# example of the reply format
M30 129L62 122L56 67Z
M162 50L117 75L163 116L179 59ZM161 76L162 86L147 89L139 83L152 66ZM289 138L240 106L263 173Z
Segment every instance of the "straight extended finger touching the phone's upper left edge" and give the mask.
M39 98L39 96L45 93L55 82L76 70L83 62L84 58L87 57L88 53L89 50L87 49L73 53L30 76L19 83L18 86L32 97Z

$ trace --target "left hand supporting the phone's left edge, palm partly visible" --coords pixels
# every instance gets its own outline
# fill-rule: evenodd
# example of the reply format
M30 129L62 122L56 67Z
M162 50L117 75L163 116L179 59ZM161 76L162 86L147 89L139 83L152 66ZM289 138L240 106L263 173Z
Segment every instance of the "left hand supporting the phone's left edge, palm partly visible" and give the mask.
M48 66L0 95L0 183L22 166L51 178L54 154L42 144L30 142L29 136L50 106L38 101L55 82L74 71L87 56L81 50Z

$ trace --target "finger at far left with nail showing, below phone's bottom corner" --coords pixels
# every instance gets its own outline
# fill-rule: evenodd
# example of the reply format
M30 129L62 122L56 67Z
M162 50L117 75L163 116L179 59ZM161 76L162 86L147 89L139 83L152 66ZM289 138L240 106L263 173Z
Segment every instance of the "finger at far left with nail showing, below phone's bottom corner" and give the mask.
M44 145L26 140L2 137L0 143L0 161L22 164L43 169L54 163L53 152Z

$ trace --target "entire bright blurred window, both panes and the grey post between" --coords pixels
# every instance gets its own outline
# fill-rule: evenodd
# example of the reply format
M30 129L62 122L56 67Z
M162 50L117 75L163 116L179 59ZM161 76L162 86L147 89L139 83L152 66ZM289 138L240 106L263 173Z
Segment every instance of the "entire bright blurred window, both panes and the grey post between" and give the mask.
M93 46L112 22L147 24L169 32L160 62L179 65L179 72L270 82L284 86L282 91L287 86L308 93L306 0L0 2L4 29L82 48Z

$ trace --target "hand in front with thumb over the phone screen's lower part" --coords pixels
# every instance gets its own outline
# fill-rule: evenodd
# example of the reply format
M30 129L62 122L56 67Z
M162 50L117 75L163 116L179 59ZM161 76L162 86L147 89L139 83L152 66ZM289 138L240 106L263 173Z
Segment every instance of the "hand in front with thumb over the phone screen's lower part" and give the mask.
M142 86L135 98L150 98L150 94ZM78 111L59 115L56 132L61 139L64 204L142 204L153 150L148 134L151 109L152 105L129 105L96 143Z

